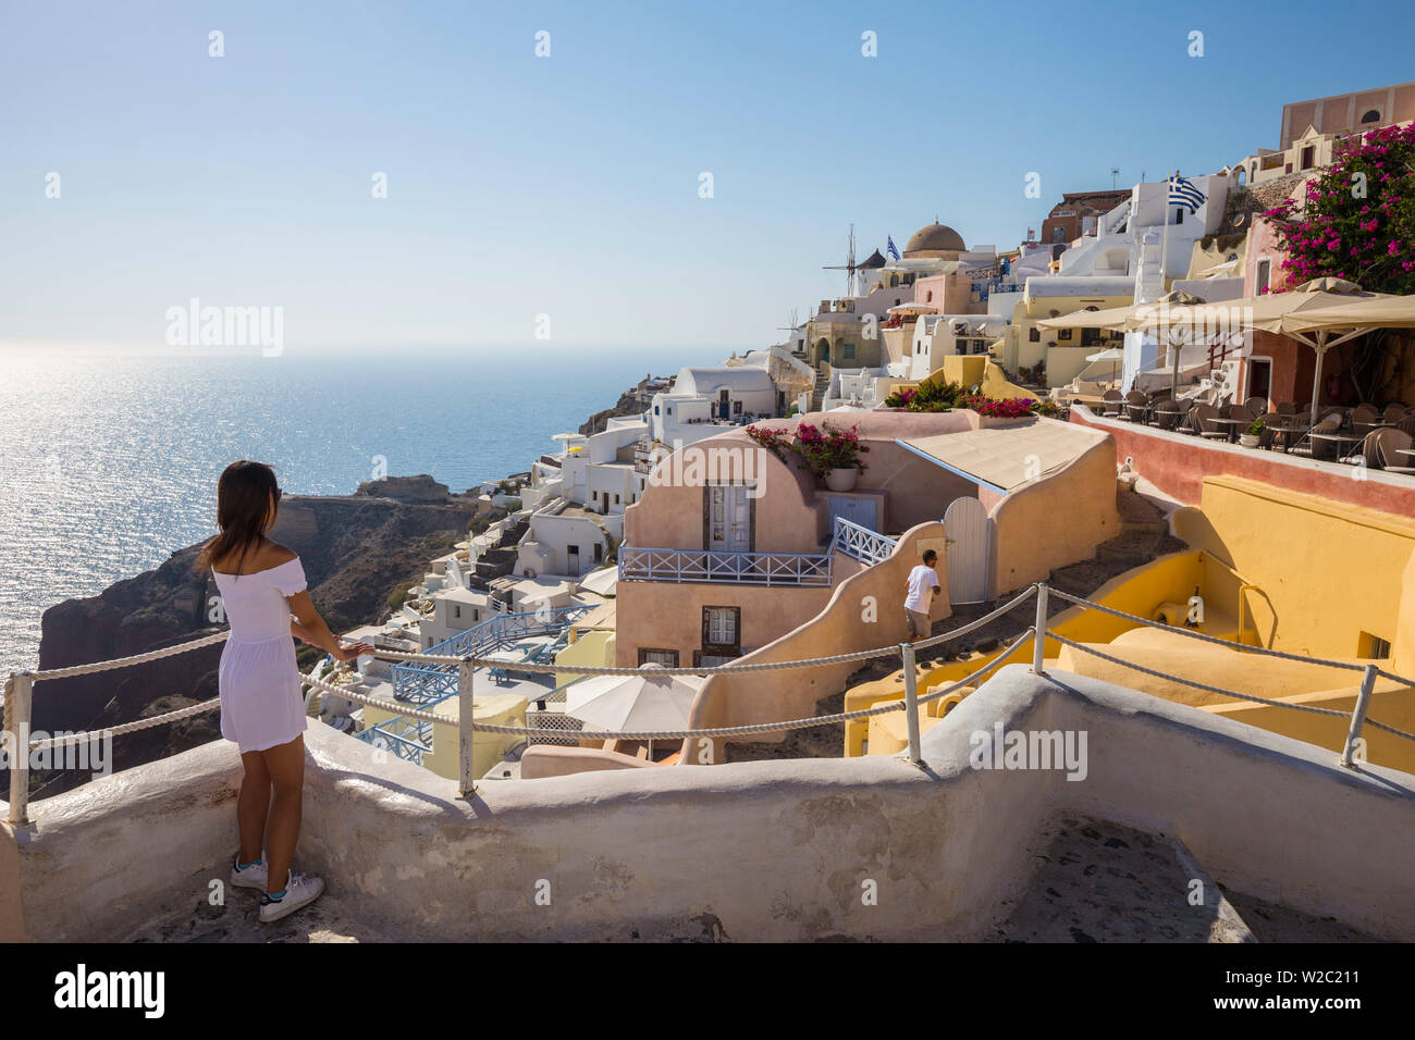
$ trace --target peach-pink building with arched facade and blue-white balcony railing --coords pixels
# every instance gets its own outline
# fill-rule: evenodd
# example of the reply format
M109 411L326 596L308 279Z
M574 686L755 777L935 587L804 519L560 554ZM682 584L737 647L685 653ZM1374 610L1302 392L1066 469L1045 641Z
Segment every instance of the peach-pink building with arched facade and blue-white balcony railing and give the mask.
M979 429L969 410L804 419L857 426L866 468L850 491L819 487L798 460L782 461L740 432L686 446L658 464L644 497L624 512L618 665L706 666L760 649L814 624L843 582L886 560L907 532L916 532L914 550L930 548L918 542L921 525L937 529L942 521L948 532L947 539L930 536L948 593L935 618L947 617L951 603L989 600L1090 557L1118 531L1108 437L1074 437L1077 430L1051 420ZM1040 433L1070 443L1071 454L1053 458L1049 449L1019 440L1037 423L1049 423ZM758 426L794 429L795 420ZM1015 464L1015 480L971 471L949 456L954 443L966 446L958 458ZM1034 473L1027 460L1036 461ZM1053 535L1037 538L1039 525ZM873 606L889 624L877 627L879 642L870 645L897 641L903 596L900 587L897 597Z

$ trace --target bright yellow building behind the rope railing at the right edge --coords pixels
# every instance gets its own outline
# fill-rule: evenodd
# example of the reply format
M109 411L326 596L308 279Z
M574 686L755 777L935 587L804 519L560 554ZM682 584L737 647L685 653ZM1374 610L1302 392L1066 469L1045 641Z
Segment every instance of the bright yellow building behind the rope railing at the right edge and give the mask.
M1415 675L1415 519L1254 480L1214 475L1204 480L1199 507L1174 514L1174 528L1189 542L1187 550L1129 570L1088 599L1139 617L1155 620L1163 614L1183 620L1191 616L1189 604L1197 594L1203 620L1194 628L1231 645L1203 642L1081 607L1056 616L1049 631L1169 675L1251 696L1324 707L1347 717L1234 700L1157 679L1060 642L1047 645L1051 664L1061 671L1228 715L1333 754L1344 746L1348 715L1365 665L1374 664L1395 675ZM1285 661L1247 652L1242 647L1265 647L1360 668ZM975 654L938 668L924 666L918 689L925 693L958 682L993 657L996 654ZM1009 662L1030 659L1029 644ZM848 691L845 710L901 696L903 681L893 676L862 683ZM941 709L934 712L944 713ZM1378 678L1370 717L1415 732L1415 689ZM848 723L845 754L866 753L866 740L869 754L893 754L900 747L896 730L897 726L873 719ZM1363 736L1370 761L1415 773L1415 741L1371 726Z

